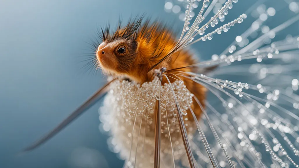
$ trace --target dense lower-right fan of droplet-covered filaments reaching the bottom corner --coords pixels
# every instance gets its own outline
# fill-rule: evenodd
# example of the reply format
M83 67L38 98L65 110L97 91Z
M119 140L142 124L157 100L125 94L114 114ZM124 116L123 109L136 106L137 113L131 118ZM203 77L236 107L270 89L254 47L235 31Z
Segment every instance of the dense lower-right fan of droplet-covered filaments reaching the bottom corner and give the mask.
M217 110L207 103L206 111L209 117L213 118L213 127L216 128L216 131L221 135L222 143L227 147L228 156L235 165L241 167L268 167L267 165L286 168L292 166L298 167L298 116L296 117L294 113L275 103L275 101L277 102L279 100L280 95L286 96L283 91L278 89L271 90L271 88L261 84L254 86L247 83L235 83L228 80L206 77L205 75L196 75L194 79L206 85L205 87L208 88L209 91L217 95L216 97L219 98L223 107L226 109L223 113L222 110ZM228 91L222 89L227 89ZM246 91L246 93L244 89L257 90L259 91L259 96L253 96L251 92L248 92L249 90ZM213 90L218 90L220 93ZM229 91L234 91L235 95L244 98L243 101L247 100L247 103L242 103L233 97ZM224 95L221 95L221 93ZM240 96L241 94L242 96ZM263 95L265 95L266 99L260 98L263 97ZM225 96L228 97L227 100L225 100ZM276 108L276 110L273 108ZM280 110L295 119L297 118L297 123L295 122L295 125L293 125L292 122L287 119L289 117L281 114ZM205 124L203 124L202 127L205 128L205 125L208 123L206 123L205 118L203 119ZM216 140L213 145L212 141L214 138L209 132L209 128L206 127L205 135L210 140L211 146L217 145L218 142ZM280 137L276 134L280 135ZM237 136L239 141L234 140L232 136ZM269 142L269 140L271 140L271 142ZM201 144L201 138L199 138L197 143ZM261 147L260 144L264 146ZM258 146L260 147L258 148ZM204 150L200 145L193 146L193 148L195 151ZM226 157L216 152L219 151L219 148L214 147L211 148L211 150L216 153L220 167L226 167L227 165L224 159ZM265 152L271 156L271 164L268 164L270 160L267 158ZM234 155L235 153L237 153L237 155ZM201 153L201 155L204 154ZM198 155L199 162L205 161L205 163L207 163L206 166L209 167L209 160L202 158L204 157L199 157ZM224 160L222 160L222 158ZM247 166L243 166L243 164Z

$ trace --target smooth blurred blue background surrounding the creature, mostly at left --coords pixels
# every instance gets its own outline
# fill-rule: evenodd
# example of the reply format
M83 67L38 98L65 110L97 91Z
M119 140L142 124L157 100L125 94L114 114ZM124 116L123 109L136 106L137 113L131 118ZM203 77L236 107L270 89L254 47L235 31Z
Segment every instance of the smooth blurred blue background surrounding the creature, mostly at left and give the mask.
M239 0L226 21L237 18L256 1ZM86 42L95 38L97 28L107 22L114 27L119 16L126 22L130 16L145 13L180 30L183 22L179 12L176 9L167 13L164 8L170 6L166 2L0 1L0 168L122 167L123 161L108 149L108 135L99 131L97 110L101 102L38 149L19 152L54 128L105 83L101 73L82 69L85 63L80 56L89 49ZM270 26L294 16L286 1L271 0L268 4L279 11ZM193 49L200 59L220 54L252 21L254 18L248 17L242 25L215 35L212 41L200 42ZM285 32L292 34L298 26ZM284 38L286 34L277 36Z

